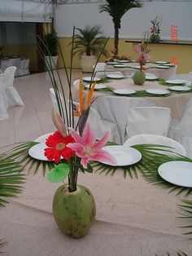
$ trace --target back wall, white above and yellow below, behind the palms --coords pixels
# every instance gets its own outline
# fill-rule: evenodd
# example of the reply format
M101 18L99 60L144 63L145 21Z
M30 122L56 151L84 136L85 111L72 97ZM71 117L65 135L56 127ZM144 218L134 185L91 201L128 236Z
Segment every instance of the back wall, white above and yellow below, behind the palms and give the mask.
M143 31L150 29L150 20L156 15L162 16L161 38L170 40L170 27L176 25L178 30L178 39L192 42L192 2L144 2L144 7L128 11L121 20L120 29L120 55L131 55L135 60L137 54L134 51L133 43L125 43L129 38L140 39ZM72 27L76 25L84 28L86 24L94 26L100 24L103 33L113 38L114 28L111 17L105 13L99 13L98 3L85 4L64 4L56 8L56 30L59 42L64 51L64 55L69 67L70 46ZM171 60L172 57L178 59L177 73L188 73L192 71L192 46L179 45L172 49L170 45L152 44L151 61ZM112 50L113 39L107 43L107 50ZM104 59L102 59L104 60ZM74 67L80 68L79 58L74 59ZM59 57L59 67L61 67L61 58Z

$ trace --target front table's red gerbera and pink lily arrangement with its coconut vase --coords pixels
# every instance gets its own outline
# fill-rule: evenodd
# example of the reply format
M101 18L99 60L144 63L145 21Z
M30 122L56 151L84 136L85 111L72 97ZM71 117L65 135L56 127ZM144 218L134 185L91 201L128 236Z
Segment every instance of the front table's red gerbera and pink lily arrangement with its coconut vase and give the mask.
M79 105L73 103L71 72L74 31L75 28L72 37L71 68L69 75L67 68L65 68L69 95L64 93L60 77L59 82L61 84L58 85L52 68L47 68L55 90L59 111L55 109L52 111L52 119L57 130L46 139L45 156L48 161L55 161L53 168L48 174L48 180L50 182L61 182L68 178L68 183L63 183L55 192L53 200L55 222L63 232L77 238L85 236L89 231L96 213L92 193L88 188L77 185L78 173L79 171L83 173L86 171L89 173L93 172L93 168L89 164L90 161L103 161L104 163L114 165L116 164L116 159L110 153L103 150L103 146L107 143L107 139L110 136L110 130L103 135L102 139L96 140L94 127L91 127L87 122L96 82L91 82L91 79L89 91L84 96L82 80L80 79ZM103 46L103 50L105 45ZM64 61L63 64L65 66ZM94 71L92 73L93 76Z

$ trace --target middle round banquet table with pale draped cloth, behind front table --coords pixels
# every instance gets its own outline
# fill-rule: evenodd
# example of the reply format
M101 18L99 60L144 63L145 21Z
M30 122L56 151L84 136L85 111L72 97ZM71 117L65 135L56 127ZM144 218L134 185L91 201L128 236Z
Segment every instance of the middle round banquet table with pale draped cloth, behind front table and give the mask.
M114 89L132 89L132 90L146 90L146 89L166 89L168 86L162 86L157 81L146 81L143 86L136 86L133 80L129 77L123 79L111 79L105 84ZM85 94L87 90L84 90ZM72 95L75 101L79 97L79 80L74 82L72 87ZM124 143L124 132L127 126L126 113L129 108L133 107L154 107L161 106L170 108L172 120L175 122L181 121L184 114L185 105L192 97L191 92L176 93L173 92L168 96L145 96L135 97L134 95L115 95L112 91L94 91L94 102L92 107L95 108L100 116L108 121L116 123L120 133L120 141L116 143Z

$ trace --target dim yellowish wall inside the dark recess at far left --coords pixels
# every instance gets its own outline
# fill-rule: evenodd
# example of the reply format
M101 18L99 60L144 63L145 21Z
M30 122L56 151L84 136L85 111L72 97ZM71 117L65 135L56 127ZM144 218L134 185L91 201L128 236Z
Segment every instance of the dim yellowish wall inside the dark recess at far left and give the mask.
M20 55L29 58L30 71L37 71L37 50L35 46L6 45L3 49L4 55Z

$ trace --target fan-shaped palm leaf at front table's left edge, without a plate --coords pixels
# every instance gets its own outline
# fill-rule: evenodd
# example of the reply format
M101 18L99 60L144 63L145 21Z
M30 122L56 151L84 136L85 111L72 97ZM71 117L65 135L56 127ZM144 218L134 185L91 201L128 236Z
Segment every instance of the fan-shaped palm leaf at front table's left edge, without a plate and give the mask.
M22 192L21 184L24 183L23 170L18 161L2 159L0 161L0 206L5 206L7 197L16 196Z

